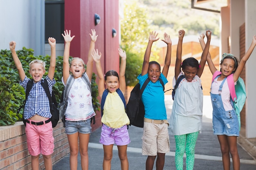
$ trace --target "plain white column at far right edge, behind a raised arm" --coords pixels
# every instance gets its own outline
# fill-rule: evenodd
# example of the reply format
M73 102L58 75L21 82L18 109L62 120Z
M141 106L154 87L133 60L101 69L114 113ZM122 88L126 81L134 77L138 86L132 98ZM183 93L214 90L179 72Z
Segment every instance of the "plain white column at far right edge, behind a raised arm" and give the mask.
M252 43L253 35L256 35L256 0L245 0L245 50L247 51ZM246 63L246 137L256 137L256 49L252 52Z

